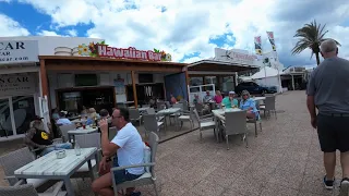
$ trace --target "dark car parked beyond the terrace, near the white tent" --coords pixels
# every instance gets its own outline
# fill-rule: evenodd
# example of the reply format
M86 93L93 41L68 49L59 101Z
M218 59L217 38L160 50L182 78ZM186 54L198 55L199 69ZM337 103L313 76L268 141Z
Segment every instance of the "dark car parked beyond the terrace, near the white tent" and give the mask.
M257 85L256 83L253 82L245 82L245 83L240 83L236 87L236 93L238 95L241 95L242 90L248 90L250 94L275 94L277 93L277 87L276 86L261 86Z

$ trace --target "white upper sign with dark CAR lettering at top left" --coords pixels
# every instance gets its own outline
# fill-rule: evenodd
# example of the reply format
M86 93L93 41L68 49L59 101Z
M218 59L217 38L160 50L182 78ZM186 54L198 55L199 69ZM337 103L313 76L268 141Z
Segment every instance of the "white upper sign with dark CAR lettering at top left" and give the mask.
M38 62L37 40L0 40L0 64Z

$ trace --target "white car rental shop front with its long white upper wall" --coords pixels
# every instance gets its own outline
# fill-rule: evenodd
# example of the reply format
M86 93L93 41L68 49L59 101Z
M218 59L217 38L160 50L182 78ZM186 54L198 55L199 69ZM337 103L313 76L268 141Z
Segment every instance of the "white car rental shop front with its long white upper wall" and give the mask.
M57 47L101 39L73 37L0 37L0 142L23 137L35 115L43 117L38 56Z

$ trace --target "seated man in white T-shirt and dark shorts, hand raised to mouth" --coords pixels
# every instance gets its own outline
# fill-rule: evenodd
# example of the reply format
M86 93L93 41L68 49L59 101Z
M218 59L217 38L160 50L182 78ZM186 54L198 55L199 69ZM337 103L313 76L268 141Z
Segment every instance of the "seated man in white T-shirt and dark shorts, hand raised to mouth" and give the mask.
M101 150L104 158L99 163L99 174L101 175L92 184L94 193L104 196L113 196L112 179L110 173L110 158L115 155L113 167L125 167L144 163L144 143L139 131L130 123L129 110L116 109L111 115L111 123L119 130L116 137L108 139L108 122L103 119L99 122L101 132ZM104 170L104 172L101 171ZM133 181L144 173L144 168L131 168L115 171L116 183ZM134 188L128 188L127 195L136 195Z

